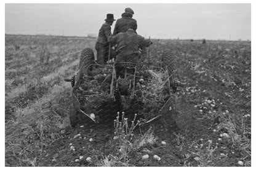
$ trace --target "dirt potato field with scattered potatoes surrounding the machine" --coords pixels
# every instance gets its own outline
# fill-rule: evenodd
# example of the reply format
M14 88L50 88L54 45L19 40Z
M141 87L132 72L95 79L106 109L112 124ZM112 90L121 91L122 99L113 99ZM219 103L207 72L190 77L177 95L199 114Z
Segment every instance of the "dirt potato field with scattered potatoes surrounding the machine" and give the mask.
M140 147L114 140L113 123L70 126L71 85L63 79L94 45L86 37L6 35L6 166L251 166L250 42L153 40L151 60L173 50L186 85L173 117L135 129Z

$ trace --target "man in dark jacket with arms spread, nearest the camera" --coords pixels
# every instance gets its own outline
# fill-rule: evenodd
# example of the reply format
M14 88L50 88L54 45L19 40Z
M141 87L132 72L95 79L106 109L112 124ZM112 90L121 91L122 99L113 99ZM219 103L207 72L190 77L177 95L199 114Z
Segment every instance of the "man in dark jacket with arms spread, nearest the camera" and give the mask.
M140 60L140 48L145 48L152 44L150 40L145 40L144 37L136 34L134 29L130 28L125 33L108 37L108 41L111 44L116 44L116 52L118 53L114 61L116 75L121 75L120 73L123 70L122 66L119 66L118 63L137 63Z

